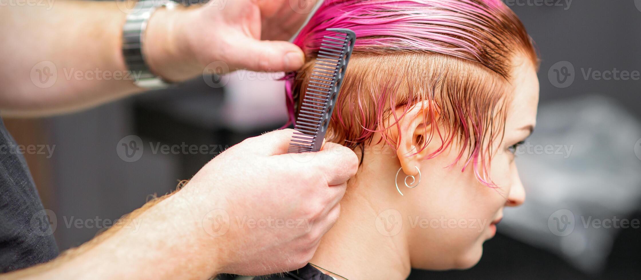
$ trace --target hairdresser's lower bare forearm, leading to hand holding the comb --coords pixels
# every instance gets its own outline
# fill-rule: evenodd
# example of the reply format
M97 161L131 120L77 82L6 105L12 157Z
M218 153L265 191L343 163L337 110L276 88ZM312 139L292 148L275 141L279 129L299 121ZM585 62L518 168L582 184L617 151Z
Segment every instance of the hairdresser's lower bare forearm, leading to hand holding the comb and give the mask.
M219 273L217 250L199 238L201 225L179 218L195 212L178 192L49 263L0 279L208 279Z

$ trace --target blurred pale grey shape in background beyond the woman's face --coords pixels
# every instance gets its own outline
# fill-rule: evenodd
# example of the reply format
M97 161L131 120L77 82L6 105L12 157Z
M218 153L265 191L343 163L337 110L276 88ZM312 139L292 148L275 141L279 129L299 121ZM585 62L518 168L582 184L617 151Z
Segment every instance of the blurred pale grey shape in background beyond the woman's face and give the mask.
M526 203L506 208L499 228L599 272L622 221L639 208L640 138L640 123L605 97L541 106L536 133L517 152Z

